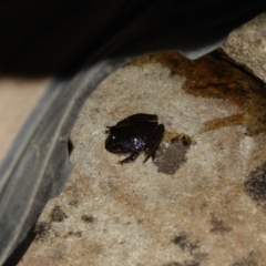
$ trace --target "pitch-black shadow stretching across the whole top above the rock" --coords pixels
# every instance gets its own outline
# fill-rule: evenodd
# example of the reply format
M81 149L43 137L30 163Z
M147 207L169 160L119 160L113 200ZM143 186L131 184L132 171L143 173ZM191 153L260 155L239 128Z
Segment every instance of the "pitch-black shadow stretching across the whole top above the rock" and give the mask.
M264 10L264 0L1 1L0 71L69 76L99 53L196 49Z

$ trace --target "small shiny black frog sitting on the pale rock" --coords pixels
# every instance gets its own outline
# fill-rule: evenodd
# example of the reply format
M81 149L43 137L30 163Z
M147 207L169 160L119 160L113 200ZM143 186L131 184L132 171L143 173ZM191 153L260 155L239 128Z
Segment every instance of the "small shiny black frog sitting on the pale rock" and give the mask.
M131 115L108 129L105 149L111 153L131 153L121 164L134 161L142 151L146 155L143 163L154 158L164 134L164 125L157 123L157 115L144 113Z

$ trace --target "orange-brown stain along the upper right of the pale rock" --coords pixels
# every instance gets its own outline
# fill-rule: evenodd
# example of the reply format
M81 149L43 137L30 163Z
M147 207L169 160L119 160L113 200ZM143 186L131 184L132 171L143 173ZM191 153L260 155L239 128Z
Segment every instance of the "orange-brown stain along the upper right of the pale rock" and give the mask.
M204 123L201 133L229 125L245 125L248 135L266 132L266 86L218 53L191 61L175 51L154 53L132 64L158 62L171 76L185 76L183 90L194 96L229 100L241 113Z

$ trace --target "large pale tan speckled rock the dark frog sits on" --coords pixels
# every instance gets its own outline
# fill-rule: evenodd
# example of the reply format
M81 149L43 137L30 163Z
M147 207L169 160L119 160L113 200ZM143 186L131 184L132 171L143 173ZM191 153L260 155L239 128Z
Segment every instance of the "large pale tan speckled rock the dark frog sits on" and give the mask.
M74 171L19 265L265 265L265 106L264 85L216 54L120 69L80 113ZM165 125L156 160L117 164L105 126L139 112Z

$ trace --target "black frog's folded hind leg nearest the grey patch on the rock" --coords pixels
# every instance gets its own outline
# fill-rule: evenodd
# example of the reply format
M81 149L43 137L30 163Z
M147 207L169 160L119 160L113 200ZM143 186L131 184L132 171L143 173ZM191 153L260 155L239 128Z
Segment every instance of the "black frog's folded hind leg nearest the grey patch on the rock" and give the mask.
M157 130L147 139L144 151L146 154L145 160L143 163L145 163L150 157L154 160L155 153L157 151L158 144L161 143L164 134L164 125L160 124Z

